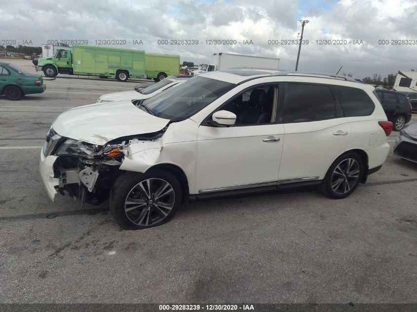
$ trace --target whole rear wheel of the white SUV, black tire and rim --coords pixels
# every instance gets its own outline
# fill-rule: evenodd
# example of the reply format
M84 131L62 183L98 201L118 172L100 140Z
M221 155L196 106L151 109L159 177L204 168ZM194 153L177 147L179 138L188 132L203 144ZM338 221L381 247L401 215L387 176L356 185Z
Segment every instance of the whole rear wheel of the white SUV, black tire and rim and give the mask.
M347 167L350 165L349 160L354 161L352 161L352 167L350 171L347 171ZM339 169L341 169L341 173L343 173L343 175L338 173ZM357 174L355 173L356 170L358 170ZM359 181L362 178L362 175L362 158L360 158L360 156L355 152L344 153L333 162L332 166L330 166L323 182L319 186L319 191L329 198L345 198L352 194L356 189Z

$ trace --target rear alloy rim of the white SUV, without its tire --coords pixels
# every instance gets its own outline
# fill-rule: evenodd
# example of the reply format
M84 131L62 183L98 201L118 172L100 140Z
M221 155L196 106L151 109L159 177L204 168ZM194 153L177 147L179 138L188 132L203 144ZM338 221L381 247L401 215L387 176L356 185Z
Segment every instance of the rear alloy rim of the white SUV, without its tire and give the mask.
M348 193L356 185L359 174L360 167L355 159L343 159L332 174L333 191L340 195Z

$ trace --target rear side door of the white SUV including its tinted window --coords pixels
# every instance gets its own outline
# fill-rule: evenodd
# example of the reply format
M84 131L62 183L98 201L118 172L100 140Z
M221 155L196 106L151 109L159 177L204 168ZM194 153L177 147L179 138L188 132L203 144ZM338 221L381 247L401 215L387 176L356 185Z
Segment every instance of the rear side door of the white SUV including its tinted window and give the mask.
M349 142L350 124L343 117L333 88L325 84L286 83L285 138L279 170L281 183L323 179Z

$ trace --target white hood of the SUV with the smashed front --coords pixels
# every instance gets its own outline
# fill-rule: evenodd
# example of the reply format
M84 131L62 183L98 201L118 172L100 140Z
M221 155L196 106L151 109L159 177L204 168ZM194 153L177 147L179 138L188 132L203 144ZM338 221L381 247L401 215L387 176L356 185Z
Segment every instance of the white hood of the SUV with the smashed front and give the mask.
M71 108L55 119L52 128L62 137L104 145L120 137L157 132L168 122L131 101L118 101Z

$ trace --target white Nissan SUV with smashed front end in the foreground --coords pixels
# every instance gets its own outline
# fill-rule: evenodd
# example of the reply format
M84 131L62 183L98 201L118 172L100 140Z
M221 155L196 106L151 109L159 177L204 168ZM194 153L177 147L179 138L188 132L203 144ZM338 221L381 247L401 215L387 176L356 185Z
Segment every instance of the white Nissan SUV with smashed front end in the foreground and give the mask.
M125 229L160 225L188 199L305 185L344 198L379 170L392 130L374 87L349 79L232 69L73 108L52 124L40 174L52 199L110 195Z

